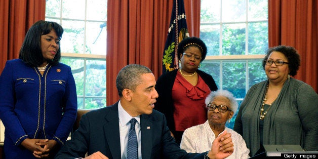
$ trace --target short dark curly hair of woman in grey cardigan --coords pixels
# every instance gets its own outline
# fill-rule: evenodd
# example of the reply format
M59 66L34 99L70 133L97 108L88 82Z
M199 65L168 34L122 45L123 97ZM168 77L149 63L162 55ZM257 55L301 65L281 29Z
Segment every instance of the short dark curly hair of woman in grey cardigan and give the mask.
M268 59L269 55L273 52L273 51L277 51L280 52L282 54L285 55L285 57L288 60L288 68L289 68L289 74L294 76L297 74L297 71L299 69L300 66L300 56L297 53L297 50L293 47L290 46L277 46L277 47L273 47L273 48L269 48L267 50L267 54L265 55L264 59L263 59L263 69L265 69L265 63L266 60Z

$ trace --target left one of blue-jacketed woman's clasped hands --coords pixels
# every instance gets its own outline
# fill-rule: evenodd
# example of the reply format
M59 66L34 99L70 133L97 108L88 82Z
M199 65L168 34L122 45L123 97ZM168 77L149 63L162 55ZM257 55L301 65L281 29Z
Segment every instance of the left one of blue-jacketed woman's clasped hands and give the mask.
M41 158L41 157L47 157L49 156L49 150L48 149L44 149L43 147L41 147L40 145L37 145L36 143L39 142L47 142L49 141L48 139L24 139L21 142L21 145L23 147L25 147L26 149L30 150L31 152L33 152L33 155L37 158ZM39 152L42 154L42 156L36 155L34 152Z

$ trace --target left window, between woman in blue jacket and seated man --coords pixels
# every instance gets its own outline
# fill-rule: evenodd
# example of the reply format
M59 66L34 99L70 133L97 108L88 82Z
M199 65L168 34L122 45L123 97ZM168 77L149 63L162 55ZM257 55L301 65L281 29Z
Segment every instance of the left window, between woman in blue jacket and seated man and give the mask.
M72 68L78 109L106 106L107 1L46 0L46 20L64 28L61 62Z

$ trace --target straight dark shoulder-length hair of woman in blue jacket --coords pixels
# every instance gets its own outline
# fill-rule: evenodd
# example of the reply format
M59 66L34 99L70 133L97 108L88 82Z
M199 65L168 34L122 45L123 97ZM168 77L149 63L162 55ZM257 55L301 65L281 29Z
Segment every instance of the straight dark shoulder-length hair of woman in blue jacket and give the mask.
M59 39L62 38L63 28L56 22L37 21L27 31L22 47L20 49L19 59L22 59L30 66L39 66L43 63L43 55L41 50L41 35L45 35L54 29ZM48 63L55 65L61 59L61 49L55 54L53 60L48 60Z

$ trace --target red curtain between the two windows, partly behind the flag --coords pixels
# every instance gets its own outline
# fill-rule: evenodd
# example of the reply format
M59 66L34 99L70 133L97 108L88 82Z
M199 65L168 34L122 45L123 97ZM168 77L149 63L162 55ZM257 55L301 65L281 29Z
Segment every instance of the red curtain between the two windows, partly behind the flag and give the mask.
M198 36L200 1L184 4L190 36ZM162 74L173 0L108 0L107 6L106 99L110 105L119 99L116 76L127 64L145 65L156 78Z

